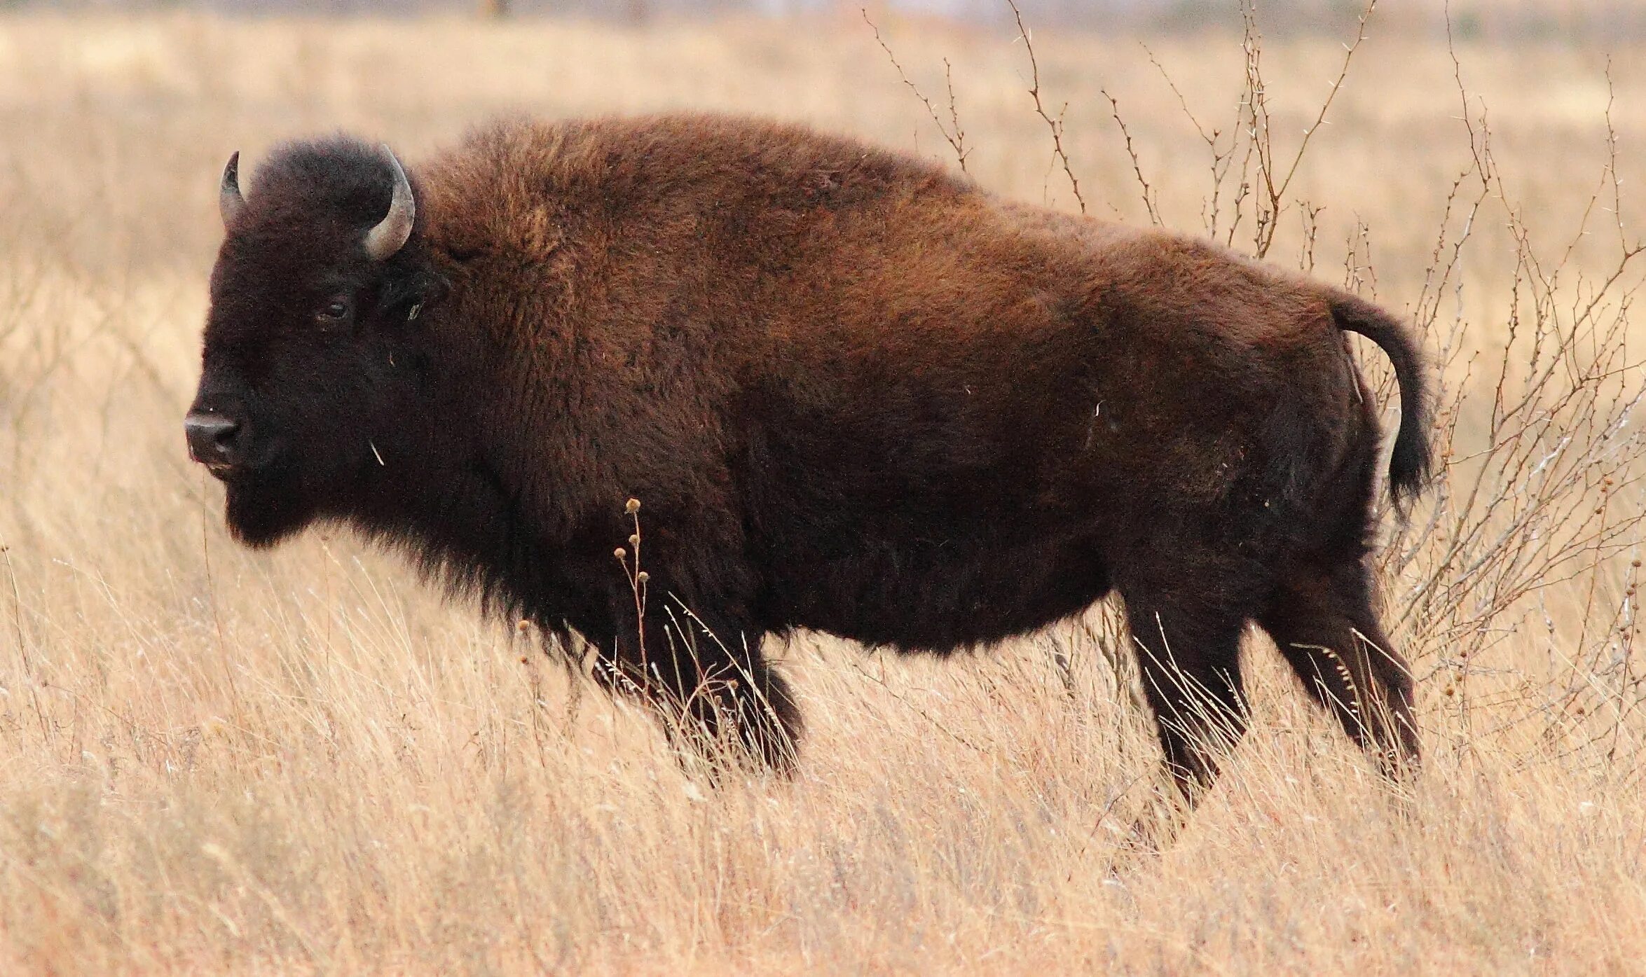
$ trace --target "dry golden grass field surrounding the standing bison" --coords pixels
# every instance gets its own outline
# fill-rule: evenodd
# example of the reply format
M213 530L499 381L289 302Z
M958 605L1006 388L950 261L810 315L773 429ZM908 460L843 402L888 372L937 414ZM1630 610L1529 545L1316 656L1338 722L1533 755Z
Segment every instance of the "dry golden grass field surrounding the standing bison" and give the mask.
M1424 326L1448 467L1384 549L1412 814L1258 638L1231 770L1164 855L1123 859L1157 750L1103 610L950 663L802 637L779 650L800 776L711 789L395 558L227 538L181 414L232 150L255 183L291 137L415 164L499 112L693 107L953 161L867 25L12 15L0 972L1646 972L1646 51L1610 51L1608 82L1605 51L1453 64L1373 20L1315 127L1338 39L1264 41L1253 84L1239 35L1042 31L1076 199L1014 31L877 26L951 130L950 61L984 186L1188 232L1215 212L1248 252L1272 227L1271 260Z

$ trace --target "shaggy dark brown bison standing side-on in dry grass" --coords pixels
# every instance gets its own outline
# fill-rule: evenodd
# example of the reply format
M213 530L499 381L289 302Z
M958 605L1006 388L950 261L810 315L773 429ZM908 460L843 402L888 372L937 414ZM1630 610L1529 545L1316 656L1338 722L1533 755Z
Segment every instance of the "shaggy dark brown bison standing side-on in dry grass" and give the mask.
M230 158L221 209L184 426L250 546L356 526L756 766L802 727L765 635L950 655L1108 594L1185 799L1243 730L1248 623L1417 760L1345 332L1394 365L1397 503L1424 363L1346 291L713 115L495 123L412 173L298 141L249 194Z

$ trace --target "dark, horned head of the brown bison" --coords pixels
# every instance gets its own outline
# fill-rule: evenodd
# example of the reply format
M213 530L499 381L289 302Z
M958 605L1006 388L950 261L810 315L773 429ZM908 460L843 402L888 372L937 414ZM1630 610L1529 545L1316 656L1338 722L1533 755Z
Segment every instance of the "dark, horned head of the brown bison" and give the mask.
M416 414L416 317L436 278L408 245L416 202L387 146L278 151L250 196L222 174L189 456L227 485L230 530L268 546L349 515ZM374 469L379 469L374 472Z

